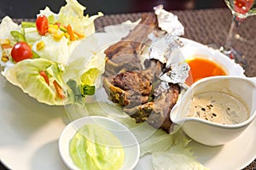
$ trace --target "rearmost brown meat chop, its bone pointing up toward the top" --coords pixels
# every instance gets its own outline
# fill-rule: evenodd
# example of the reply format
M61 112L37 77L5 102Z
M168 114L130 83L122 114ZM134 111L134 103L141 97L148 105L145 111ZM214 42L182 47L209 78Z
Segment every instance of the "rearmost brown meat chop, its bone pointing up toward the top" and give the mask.
M105 75L116 75L120 71L142 70L140 59L143 48L150 40L148 34L157 27L155 14L143 14L140 23L130 33L105 50L107 62Z

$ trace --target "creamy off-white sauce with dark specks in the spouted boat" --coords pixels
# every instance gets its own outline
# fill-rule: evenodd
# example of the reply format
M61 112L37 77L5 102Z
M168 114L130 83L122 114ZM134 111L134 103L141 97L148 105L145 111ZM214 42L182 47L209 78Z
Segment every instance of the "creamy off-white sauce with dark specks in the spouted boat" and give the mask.
M193 97L189 116L231 125L246 121L248 111L239 99L230 94L207 92Z

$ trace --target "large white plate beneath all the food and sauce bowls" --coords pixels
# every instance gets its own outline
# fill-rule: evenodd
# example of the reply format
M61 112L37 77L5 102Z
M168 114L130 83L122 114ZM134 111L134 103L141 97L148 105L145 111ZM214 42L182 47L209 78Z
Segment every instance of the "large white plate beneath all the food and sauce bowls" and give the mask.
M223 54L200 43L187 39L183 42L185 47L197 48L198 53L224 58ZM239 66L233 66L237 67L236 75L243 76ZM58 153L58 138L67 125L64 107L39 104L23 94L20 88L6 82L3 76L0 76L0 82L0 159L3 164L20 170L67 169ZM241 136L224 146L207 147L193 142L191 147L206 167L241 169L256 158L255 132L256 120ZM143 156L136 169L152 169L150 156Z

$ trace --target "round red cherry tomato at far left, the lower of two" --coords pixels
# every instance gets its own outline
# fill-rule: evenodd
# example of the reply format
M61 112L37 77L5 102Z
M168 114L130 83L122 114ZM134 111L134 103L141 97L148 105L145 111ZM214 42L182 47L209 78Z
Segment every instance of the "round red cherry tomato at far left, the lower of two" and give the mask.
M32 59L32 55L32 50L26 42L17 42L11 51L11 56L15 62L23 59Z

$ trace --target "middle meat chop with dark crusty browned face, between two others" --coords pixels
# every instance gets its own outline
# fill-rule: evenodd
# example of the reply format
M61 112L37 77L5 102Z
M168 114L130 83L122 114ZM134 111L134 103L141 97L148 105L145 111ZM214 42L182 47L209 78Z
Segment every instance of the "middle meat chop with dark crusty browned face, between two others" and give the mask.
M152 82L156 81L162 69L158 60L150 61L147 70L124 71L104 78L103 87L109 99L125 108L148 102L152 93Z

